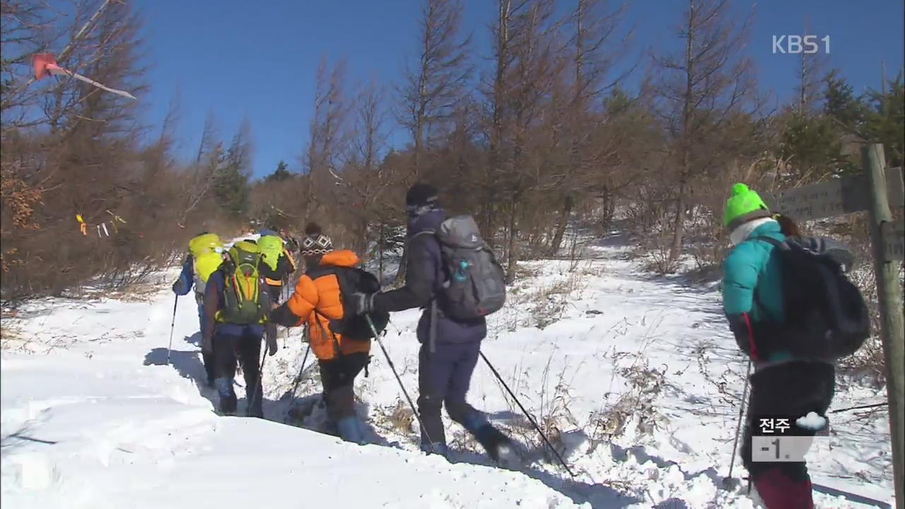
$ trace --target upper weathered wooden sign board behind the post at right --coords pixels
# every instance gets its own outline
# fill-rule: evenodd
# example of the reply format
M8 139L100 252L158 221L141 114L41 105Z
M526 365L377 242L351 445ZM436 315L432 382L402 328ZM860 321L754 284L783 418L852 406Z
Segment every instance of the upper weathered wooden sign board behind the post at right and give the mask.
M886 187L890 206L905 201L901 168L886 170ZM793 187L774 193L761 193L771 212L785 214L797 221L823 219L867 210L871 204L867 178L835 178L810 186Z

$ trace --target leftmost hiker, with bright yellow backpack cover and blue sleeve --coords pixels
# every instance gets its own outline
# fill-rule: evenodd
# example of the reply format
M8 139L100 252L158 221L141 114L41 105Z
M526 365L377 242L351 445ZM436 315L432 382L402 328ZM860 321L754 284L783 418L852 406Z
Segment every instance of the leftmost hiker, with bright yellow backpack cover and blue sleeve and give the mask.
M195 287L195 303L198 304L198 325L201 327L202 309L205 303L205 285L211 274L214 274L224 262L224 244L220 235L201 232L188 243L188 255L182 264L182 272L173 283L173 293L186 295ZM214 361L202 351L205 363L207 385L214 386Z

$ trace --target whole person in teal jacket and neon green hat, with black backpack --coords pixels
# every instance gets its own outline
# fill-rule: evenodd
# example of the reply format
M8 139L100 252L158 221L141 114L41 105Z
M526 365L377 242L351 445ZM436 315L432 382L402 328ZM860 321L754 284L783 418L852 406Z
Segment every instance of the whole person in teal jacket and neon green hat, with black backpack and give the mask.
M813 507L805 462L755 462L752 437L779 418L791 424L788 435L826 429L835 364L870 336L862 295L844 275L854 257L831 239L802 236L744 184L732 187L723 221L735 245L724 264L723 311L754 366L742 464L768 509Z

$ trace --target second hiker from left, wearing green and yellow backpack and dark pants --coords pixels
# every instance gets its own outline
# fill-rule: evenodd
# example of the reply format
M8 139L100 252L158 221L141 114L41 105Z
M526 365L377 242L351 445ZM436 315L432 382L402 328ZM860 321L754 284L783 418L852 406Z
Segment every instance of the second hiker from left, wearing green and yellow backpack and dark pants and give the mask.
M202 351L214 359L214 387L219 411L233 415L237 401L233 391L236 361L242 365L249 417L263 417L263 389L258 361L264 326L271 312L271 298L259 272L261 249L240 241L226 251L226 260L211 274L205 286ZM275 337L267 338L268 354L277 351ZM238 359L237 359L238 357Z

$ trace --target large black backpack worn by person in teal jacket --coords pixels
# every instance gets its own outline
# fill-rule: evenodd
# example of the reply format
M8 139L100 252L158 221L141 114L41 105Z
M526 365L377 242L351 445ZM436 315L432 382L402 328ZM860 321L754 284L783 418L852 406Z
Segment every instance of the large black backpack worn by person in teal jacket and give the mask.
M755 240L776 246L786 314L782 332L757 337L758 347L764 341L767 350L820 360L839 360L858 351L871 336L871 317L861 292L845 277L839 261L795 237L786 242L768 236Z

